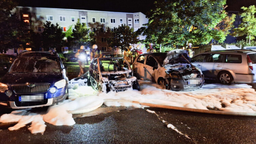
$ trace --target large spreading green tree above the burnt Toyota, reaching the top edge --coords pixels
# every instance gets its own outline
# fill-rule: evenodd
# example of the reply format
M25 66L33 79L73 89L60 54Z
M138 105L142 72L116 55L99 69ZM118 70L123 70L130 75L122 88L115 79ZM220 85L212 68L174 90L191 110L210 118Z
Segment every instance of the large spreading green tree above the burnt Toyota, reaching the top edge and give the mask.
M185 45L208 44L219 38L214 29L226 17L226 0L158 0L147 13L148 24L140 31L146 42Z

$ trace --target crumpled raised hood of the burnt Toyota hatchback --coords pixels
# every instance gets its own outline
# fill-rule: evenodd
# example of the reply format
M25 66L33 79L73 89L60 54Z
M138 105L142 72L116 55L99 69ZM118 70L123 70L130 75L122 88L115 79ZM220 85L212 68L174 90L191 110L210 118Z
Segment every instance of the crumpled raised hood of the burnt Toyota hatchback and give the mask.
M189 63L191 58L188 56L188 52L183 49L175 49L167 53L167 57L165 58L165 64L177 64L177 63Z

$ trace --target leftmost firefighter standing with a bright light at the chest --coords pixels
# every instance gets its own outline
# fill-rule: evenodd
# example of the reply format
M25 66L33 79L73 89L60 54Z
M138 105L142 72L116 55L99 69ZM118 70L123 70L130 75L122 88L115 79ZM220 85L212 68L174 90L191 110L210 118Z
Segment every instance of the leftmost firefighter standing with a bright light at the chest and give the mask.
M80 50L75 54L75 57L78 59L78 63L79 63L79 68L80 68L80 73L78 76L81 76L85 73L85 68L84 68L84 64L86 62L86 64L88 64L88 58L87 58L87 54L84 51L85 46L81 46Z

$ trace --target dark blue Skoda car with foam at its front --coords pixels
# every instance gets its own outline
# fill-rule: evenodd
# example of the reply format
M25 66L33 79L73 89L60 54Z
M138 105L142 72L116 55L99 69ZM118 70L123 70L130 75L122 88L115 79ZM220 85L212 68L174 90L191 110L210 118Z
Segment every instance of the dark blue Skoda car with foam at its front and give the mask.
M0 105L25 109L68 99L68 78L58 54L24 52L0 80Z

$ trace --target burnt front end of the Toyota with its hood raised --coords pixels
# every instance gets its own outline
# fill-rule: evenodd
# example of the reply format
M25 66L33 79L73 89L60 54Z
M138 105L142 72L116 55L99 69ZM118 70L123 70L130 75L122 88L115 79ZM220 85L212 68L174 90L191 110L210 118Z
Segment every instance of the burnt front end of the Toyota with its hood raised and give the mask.
M186 50L176 49L167 53L163 62L167 77L167 88L174 91L195 90L203 86L204 75L190 63Z

